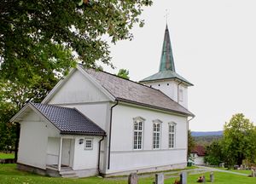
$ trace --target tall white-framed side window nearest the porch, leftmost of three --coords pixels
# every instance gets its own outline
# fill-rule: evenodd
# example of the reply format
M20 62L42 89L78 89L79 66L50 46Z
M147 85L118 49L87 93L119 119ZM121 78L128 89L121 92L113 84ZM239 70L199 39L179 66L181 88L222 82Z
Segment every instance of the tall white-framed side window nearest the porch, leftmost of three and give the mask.
M142 150L143 149L143 129L144 129L145 119L142 117L133 118L133 150Z

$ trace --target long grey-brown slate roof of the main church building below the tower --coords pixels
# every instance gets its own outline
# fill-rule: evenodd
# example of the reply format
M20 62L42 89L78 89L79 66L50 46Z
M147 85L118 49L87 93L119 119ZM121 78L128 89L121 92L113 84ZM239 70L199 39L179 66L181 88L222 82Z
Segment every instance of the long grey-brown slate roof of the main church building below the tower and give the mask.
M85 71L93 78L96 78L96 81L107 89L116 100L194 116L186 108L173 101L158 89L149 88L141 83L119 78L108 72L96 72L93 69L85 69Z

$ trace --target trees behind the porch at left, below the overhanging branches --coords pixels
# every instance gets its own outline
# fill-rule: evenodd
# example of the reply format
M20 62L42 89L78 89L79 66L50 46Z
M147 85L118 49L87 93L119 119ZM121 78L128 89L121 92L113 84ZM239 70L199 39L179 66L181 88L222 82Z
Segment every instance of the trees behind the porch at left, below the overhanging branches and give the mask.
M30 83L0 80L0 150L17 149L20 126L10 123L10 118L28 101L42 101L56 81L55 75L47 78L33 78ZM15 154L15 158L16 156Z

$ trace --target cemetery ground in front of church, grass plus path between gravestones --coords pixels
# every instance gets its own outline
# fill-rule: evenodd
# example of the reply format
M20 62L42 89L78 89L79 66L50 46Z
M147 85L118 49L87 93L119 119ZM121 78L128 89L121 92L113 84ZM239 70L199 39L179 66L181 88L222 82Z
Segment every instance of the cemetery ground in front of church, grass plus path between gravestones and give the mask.
M197 183L197 178L201 175L206 176L207 183L210 183L210 172L209 170L196 169L186 170L188 172L188 184ZM181 170L173 170L170 172L165 172L165 183L172 184L176 179ZM238 173L239 174L239 173ZM250 175L250 171L247 172ZM255 184L256 178L248 177L247 175L236 175L233 173L226 173L221 171L214 171L214 183L215 184ZM91 184L126 184L127 177L113 177L113 178L101 178L101 177L89 177L81 179L67 179L67 178L54 178L48 176L41 176L25 171L16 170L16 164L0 164L0 183L7 184L71 184L71 183L91 183ZM154 181L154 174L139 175L140 184L152 184Z

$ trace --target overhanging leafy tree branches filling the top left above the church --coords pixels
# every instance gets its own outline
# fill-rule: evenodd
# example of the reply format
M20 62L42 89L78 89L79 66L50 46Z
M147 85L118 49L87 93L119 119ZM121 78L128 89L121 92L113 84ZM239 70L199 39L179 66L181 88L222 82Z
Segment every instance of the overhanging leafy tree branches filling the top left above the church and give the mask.
M102 36L113 43L131 39L131 28L143 26L143 7L151 4L152 0L2 0L0 76L32 78L40 68L60 72L74 60L86 67L96 67L96 60L111 65ZM62 55L63 50L75 55Z

